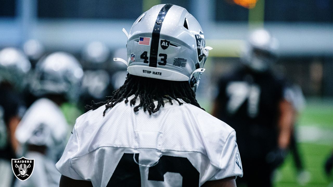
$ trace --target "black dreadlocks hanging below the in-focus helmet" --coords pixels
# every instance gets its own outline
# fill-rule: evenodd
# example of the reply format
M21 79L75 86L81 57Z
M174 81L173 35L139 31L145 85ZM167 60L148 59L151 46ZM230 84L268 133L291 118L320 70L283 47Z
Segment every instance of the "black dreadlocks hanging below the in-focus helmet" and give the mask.
M180 98L186 103L201 108L195 99L195 93L190 88L188 81L166 81L129 75L123 86L115 90L112 96L107 96L108 100L98 103L91 101L91 105L86 105L86 109L95 110L105 105L104 116L109 108L114 107L123 99L125 99L125 103L127 103L129 101L128 97L131 95L134 95L134 98L130 100L131 106L136 104L138 96L140 98L140 104L134 107L134 112L139 111L139 108L142 107L143 110L148 111L150 115L159 111L161 106L164 107L164 99L168 99L168 102L171 104L173 104L171 100L174 99L181 105L183 103L178 100L178 98ZM158 101L157 106L155 106L154 100Z

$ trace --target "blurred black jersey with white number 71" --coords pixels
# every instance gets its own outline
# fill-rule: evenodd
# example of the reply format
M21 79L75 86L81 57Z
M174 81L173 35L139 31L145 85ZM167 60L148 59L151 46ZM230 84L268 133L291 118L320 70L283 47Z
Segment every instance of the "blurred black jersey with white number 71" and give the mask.
M264 157L277 146L279 101L284 81L272 72L253 73L246 68L219 81L217 117L237 132L243 157Z

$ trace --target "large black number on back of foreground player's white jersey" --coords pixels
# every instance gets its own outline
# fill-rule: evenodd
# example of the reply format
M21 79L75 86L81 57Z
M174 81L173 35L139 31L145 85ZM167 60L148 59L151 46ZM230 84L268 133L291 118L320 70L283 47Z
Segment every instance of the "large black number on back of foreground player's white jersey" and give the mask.
M141 187L140 168L133 158L138 161L139 154L123 154L107 187ZM166 172L179 173L183 178L183 187L199 186L200 174L185 157L161 156L158 164L149 168L148 180L164 181L164 174L166 174Z

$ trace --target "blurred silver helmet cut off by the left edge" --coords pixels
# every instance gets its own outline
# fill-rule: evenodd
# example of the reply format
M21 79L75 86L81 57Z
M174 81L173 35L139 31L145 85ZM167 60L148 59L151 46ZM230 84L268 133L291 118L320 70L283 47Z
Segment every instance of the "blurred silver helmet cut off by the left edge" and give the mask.
M7 81L23 89L30 68L30 61L21 50L10 47L0 51L0 82Z

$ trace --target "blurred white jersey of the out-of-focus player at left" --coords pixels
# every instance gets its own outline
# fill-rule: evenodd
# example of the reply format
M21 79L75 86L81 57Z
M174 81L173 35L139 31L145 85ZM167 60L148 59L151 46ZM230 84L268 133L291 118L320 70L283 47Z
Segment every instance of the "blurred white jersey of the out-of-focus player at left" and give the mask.
M68 131L60 107L50 99L41 98L28 108L17 126L15 136L23 149L27 144L45 145L48 159L56 162L64 150Z

